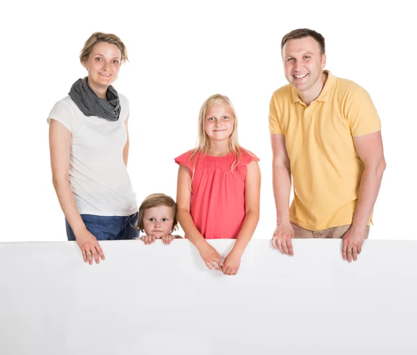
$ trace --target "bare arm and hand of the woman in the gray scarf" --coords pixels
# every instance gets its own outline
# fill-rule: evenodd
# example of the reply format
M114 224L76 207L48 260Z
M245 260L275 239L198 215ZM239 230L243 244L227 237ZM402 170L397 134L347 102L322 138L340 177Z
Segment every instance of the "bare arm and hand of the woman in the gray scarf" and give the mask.
M68 180L70 168L71 133L56 119L49 123L49 150L51 152L52 183L58 196L59 204L65 218L70 224L81 249L85 262L92 264L92 256L99 263L99 256L104 260L104 254L95 236L85 228L81 215L76 208L74 194Z

